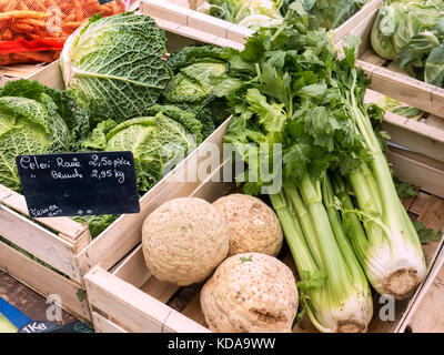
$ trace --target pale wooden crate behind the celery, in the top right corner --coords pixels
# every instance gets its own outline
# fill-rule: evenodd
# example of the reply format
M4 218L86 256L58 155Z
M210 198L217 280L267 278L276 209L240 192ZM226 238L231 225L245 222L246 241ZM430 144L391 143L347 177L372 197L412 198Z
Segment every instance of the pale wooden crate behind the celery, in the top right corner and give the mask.
M362 39L357 64L372 78L371 89L431 113L432 116L425 120L442 128L440 118L444 118L444 89L408 77L396 64L373 51L370 33L377 11L376 8L363 21L355 22L355 28L350 32ZM342 47L343 41L337 45Z

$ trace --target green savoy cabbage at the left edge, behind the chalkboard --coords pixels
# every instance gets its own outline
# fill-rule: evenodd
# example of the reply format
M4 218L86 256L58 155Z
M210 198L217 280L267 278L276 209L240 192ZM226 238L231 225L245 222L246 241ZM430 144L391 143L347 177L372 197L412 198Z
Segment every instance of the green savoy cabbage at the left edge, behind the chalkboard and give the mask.
M0 89L0 184L20 191L17 155L68 152L88 130L88 111L70 93L37 81L8 82Z

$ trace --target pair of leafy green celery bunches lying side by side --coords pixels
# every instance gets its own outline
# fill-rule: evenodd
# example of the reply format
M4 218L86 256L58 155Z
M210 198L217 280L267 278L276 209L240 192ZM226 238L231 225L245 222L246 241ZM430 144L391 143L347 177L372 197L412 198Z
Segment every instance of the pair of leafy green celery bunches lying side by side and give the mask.
M331 37L309 30L306 12L292 4L281 26L261 29L243 52L231 50L239 69L219 87L235 113L225 141L241 148L249 172L260 176L238 176L246 193L268 189L279 169L258 174L261 156L246 154L245 144L266 144L268 161L272 145L282 144L276 164L282 161L284 190L268 192L313 324L324 332L365 331L372 315L365 275L379 293L403 298L426 267L383 153L384 135L372 126L383 112L363 101L369 82L355 68L359 43L339 60Z

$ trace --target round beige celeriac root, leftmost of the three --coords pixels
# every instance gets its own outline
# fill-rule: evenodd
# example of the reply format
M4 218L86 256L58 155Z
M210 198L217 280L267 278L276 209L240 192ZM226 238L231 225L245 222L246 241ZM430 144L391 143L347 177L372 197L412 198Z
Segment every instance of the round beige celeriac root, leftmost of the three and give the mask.
M199 283L226 257L226 220L204 200L174 199L143 223L142 247L148 267L160 281Z

